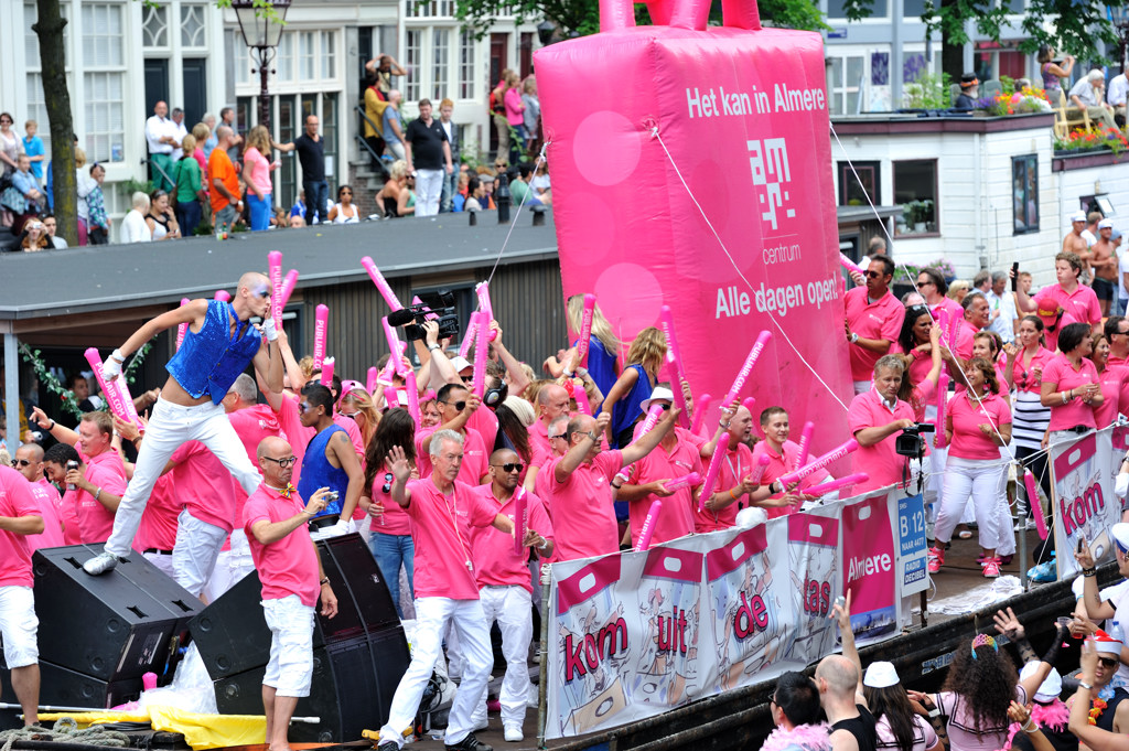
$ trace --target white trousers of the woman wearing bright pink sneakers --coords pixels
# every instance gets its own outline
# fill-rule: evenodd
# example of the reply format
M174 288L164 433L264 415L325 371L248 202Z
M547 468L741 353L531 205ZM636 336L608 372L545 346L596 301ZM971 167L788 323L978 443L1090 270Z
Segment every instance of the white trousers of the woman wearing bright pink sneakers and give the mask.
M938 543L948 542L961 521L964 506L972 496L975 505L980 547L994 549L1000 542L999 487L1007 465L998 459L970 460L949 454L945 468L945 490L934 530Z

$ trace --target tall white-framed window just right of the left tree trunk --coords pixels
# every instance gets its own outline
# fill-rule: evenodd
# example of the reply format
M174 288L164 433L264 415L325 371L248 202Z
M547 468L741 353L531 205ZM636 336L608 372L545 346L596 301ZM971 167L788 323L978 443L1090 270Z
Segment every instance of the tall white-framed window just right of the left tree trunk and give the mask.
M82 5L88 161L122 161L125 143L125 34L120 3Z

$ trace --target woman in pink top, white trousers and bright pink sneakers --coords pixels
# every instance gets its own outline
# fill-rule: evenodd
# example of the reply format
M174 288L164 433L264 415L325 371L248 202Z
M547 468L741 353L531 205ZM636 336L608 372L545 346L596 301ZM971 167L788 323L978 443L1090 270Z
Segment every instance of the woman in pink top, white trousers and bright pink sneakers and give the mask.
M1000 475L1007 469L999 447L1012 439L1012 411L999 396L996 367L989 360L980 357L969 360L964 381L968 387L949 399L945 408L948 461L934 529L936 542L929 550L929 571L936 574L944 565L945 545L971 496L980 527L984 576L997 577L1000 561L996 549L1004 535L999 529Z

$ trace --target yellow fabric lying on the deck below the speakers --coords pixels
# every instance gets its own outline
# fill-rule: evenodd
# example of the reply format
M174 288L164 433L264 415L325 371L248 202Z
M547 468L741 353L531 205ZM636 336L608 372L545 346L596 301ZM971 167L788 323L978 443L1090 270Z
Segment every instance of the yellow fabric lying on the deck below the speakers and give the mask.
M105 723L149 723L155 731L184 734L194 751L266 742L262 715L203 715L175 707L149 707L148 711L85 711L40 714L40 719L71 717L79 726Z

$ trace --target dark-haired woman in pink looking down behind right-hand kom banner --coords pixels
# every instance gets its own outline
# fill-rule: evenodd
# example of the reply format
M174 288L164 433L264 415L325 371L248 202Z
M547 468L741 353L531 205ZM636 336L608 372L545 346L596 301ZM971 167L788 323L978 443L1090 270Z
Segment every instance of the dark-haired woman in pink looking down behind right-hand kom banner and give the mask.
M1102 398L1097 368L1087 359L1094 350L1088 323L1071 323L1059 332L1061 355L1043 368L1040 402L1051 410L1048 438L1051 444L1073 440L1097 426L1094 408Z

